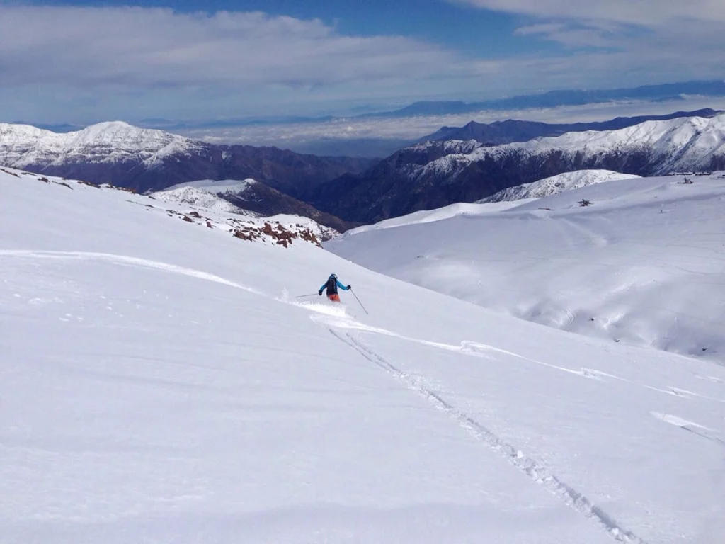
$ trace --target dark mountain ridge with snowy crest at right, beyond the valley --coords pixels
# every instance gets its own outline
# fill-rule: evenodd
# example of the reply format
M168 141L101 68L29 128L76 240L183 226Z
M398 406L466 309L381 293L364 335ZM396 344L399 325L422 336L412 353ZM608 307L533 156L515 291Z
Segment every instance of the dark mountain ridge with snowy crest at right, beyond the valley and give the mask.
M573 132L500 146L476 141L416 144L361 176L344 176L323 185L312 203L347 221L374 222L454 202L476 202L503 189L573 170L657 176L724 168L722 114L647 121L617 131Z

